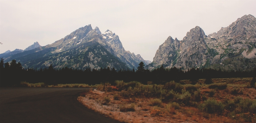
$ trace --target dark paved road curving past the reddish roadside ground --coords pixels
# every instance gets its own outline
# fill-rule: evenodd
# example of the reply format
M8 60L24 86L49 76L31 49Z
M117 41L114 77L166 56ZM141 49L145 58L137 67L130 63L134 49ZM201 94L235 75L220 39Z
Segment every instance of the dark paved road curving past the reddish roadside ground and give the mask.
M121 123L77 101L88 88L0 88L1 123Z

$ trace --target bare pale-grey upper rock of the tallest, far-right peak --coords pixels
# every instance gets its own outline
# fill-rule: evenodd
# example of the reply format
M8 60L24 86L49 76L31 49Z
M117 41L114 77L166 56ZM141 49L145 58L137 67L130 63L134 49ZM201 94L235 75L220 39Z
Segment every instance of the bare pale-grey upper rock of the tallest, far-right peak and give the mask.
M228 27L221 28L217 33L208 35L210 46L220 54L230 48L232 52L239 52L241 49L254 47L256 42L256 18L252 15L244 15ZM211 43L214 43L212 46ZM216 47L219 46L219 47Z

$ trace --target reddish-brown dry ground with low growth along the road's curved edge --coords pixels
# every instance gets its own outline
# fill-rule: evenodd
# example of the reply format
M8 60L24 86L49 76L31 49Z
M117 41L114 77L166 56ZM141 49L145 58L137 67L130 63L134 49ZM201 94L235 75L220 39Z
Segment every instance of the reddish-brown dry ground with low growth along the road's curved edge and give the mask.
M79 96L78 100L87 108L106 117L127 123L166 123L166 122L230 122L232 119L214 114L204 114L198 109L189 106L182 106L180 109L166 110L166 103L160 107L150 105L153 98L124 98L119 96L119 100L114 100L113 95L119 92L106 92L97 94L89 92L85 97ZM118 94L119 95L119 94ZM110 102L104 104L104 98L110 98ZM122 105L135 104L135 111L120 112ZM206 118L205 118L206 117Z

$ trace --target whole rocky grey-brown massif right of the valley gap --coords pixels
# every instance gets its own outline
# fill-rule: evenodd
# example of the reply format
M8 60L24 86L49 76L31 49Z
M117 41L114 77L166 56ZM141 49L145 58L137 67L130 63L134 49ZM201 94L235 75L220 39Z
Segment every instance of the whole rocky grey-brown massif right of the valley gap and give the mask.
M208 36L196 26L181 41L169 36L159 46L153 62L146 67L154 69L163 65L165 68L175 66L184 70L202 67L252 69L256 61L255 30L256 18L250 14ZM250 62L245 63L248 61L245 58Z

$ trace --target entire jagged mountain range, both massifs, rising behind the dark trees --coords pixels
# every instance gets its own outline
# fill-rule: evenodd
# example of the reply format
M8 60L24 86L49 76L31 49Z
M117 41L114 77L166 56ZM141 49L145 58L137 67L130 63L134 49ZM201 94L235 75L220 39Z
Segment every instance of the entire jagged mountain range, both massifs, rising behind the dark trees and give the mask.
M15 49L0 54L5 61L21 62L25 68L64 67L136 69L143 61L146 69L164 68L214 68L252 70L256 63L256 18L244 15L217 33L205 35L196 26L182 40L169 36L156 51L153 62L139 54L126 51L115 33L101 33L89 24L81 27L52 44L41 47L38 42L24 51Z

